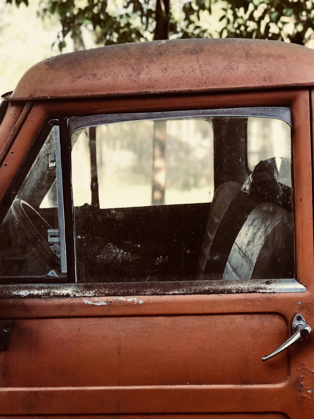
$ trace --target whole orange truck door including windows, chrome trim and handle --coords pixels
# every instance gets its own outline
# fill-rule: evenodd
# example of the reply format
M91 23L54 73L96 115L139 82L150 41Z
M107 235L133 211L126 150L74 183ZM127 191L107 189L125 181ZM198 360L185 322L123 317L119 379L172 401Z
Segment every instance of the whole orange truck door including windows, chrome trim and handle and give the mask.
M2 202L1 417L312 417L309 92L141 101L39 105Z

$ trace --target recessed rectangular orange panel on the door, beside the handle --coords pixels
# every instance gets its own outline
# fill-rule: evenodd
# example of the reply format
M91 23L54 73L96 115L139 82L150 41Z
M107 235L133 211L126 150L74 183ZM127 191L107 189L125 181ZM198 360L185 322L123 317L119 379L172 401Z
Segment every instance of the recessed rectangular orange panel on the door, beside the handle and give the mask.
M266 365L287 326L275 314L17 320L1 387L275 384Z

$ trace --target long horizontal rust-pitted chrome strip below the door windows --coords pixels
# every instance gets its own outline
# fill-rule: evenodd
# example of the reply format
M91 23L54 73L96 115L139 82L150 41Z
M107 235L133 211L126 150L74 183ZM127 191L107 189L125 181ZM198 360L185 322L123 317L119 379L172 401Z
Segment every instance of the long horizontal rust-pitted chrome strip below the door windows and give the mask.
M175 279L175 278L174 278ZM97 284L16 284L1 285L0 298L18 297L110 297L132 295L213 295L304 292L296 279L250 281L165 281Z

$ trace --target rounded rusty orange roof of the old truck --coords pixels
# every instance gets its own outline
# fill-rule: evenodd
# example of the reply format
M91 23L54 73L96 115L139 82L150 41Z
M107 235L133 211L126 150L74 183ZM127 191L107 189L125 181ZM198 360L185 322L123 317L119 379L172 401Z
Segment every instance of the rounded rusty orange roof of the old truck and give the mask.
M180 39L62 54L31 67L9 100L314 84L314 51L250 39Z

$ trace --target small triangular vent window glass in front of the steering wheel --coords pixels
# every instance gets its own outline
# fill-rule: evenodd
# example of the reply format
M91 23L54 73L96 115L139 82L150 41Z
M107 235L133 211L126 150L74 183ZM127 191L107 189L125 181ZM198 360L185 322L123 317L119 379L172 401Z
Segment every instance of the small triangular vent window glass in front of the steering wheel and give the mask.
M53 128L0 225L0 278L56 279L60 254Z

